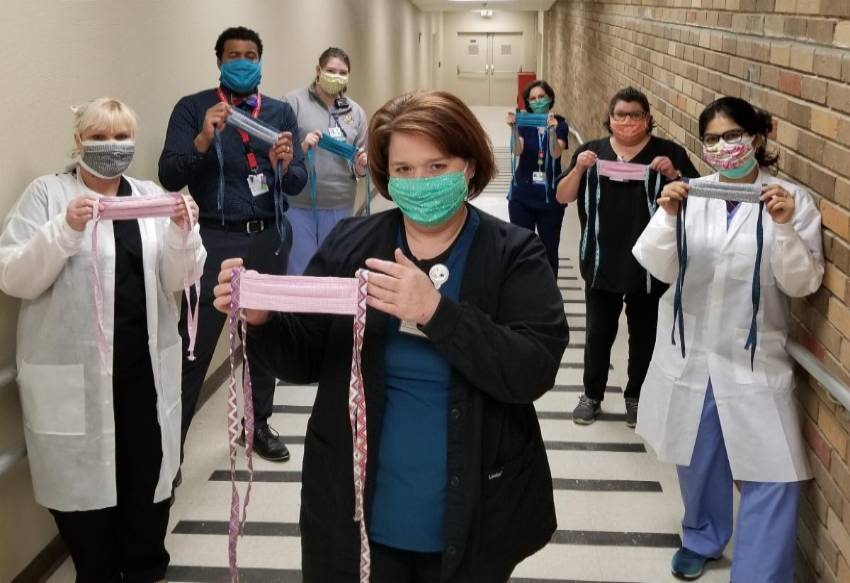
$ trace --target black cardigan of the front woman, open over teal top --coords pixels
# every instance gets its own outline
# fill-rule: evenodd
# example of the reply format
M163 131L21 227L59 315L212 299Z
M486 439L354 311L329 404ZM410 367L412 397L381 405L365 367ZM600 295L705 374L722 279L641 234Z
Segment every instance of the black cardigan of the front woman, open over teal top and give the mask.
M423 327L452 366L442 570L443 581L453 583L504 580L555 530L552 477L532 402L554 385L569 341L561 292L537 236L477 212L481 223L460 301L443 298ZM400 221L392 210L340 222L306 275L352 277L369 257L392 259ZM362 354L367 520L380 463L387 318L368 309ZM249 329L252 361L292 383L319 382L304 444L305 572L317 560L354 573L359 561L348 420L351 346L351 317L276 314Z

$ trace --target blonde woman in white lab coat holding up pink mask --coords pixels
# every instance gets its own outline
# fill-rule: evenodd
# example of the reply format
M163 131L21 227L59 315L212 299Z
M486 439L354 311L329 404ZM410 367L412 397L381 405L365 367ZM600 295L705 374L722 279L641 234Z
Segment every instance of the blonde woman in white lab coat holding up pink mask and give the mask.
M180 460L175 292L199 277L206 254L188 230L191 199L170 219L93 223L109 197L164 193L124 175L135 151L129 107L104 97L74 113L73 164L35 179L6 218L0 290L23 300L16 361L36 500L53 514L78 582L148 583L168 566Z

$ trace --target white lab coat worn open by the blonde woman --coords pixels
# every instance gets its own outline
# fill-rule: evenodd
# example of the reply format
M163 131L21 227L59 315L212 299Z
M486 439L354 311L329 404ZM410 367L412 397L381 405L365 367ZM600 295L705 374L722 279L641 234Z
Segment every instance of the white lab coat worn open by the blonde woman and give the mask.
M153 182L126 177L133 196L162 194ZM92 193L76 174L33 181L0 235L0 290L22 298L18 318L18 387L35 499L63 511L115 506L115 419L112 377L95 341L92 223L84 232L65 221L72 198ZM169 219L139 220L151 365L162 435L154 502L171 495L180 463L182 343L176 294L194 281L206 251ZM103 323L111 347L115 300L112 222L98 225Z

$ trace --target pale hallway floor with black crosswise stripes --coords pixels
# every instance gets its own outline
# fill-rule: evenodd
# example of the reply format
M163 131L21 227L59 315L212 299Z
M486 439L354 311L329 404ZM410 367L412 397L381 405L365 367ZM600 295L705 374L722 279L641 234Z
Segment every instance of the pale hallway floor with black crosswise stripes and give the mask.
M502 175L475 204L507 218L505 192L510 175L504 148L507 128L501 108L477 110L490 131ZM380 209L384 201L376 204ZM561 243L561 285L568 313L583 314L582 281L576 266L578 219L567 211ZM675 472L647 452L640 438L622 421L621 387L625 382L625 322L612 355L611 389L604 403L613 420L589 427L574 425L567 413L581 390L584 317L568 318L571 348L564 355L554 390L537 402L543 436L555 478L558 532L545 549L520 564L515 582L596 583L674 581L670 557L679 543L682 505ZM575 348L573 348L575 347ZM573 366L570 366L573 365ZM300 546L299 483L303 435L315 387L281 387L272 425L287 436L292 459L273 464L255 459L255 470L268 472L254 485L249 508L249 534L240 540L242 580L298 582ZM172 557L169 580L227 581L226 520L230 485L217 474L228 467L223 391L198 413L189 435L183 485L172 509L167 538ZM241 464L242 462L240 462ZM211 479L215 478L215 479ZM291 480L291 481L290 481ZM727 555L728 555L727 551ZM728 560L712 565L701 579L729 580ZM73 581L70 561L50 579Z

